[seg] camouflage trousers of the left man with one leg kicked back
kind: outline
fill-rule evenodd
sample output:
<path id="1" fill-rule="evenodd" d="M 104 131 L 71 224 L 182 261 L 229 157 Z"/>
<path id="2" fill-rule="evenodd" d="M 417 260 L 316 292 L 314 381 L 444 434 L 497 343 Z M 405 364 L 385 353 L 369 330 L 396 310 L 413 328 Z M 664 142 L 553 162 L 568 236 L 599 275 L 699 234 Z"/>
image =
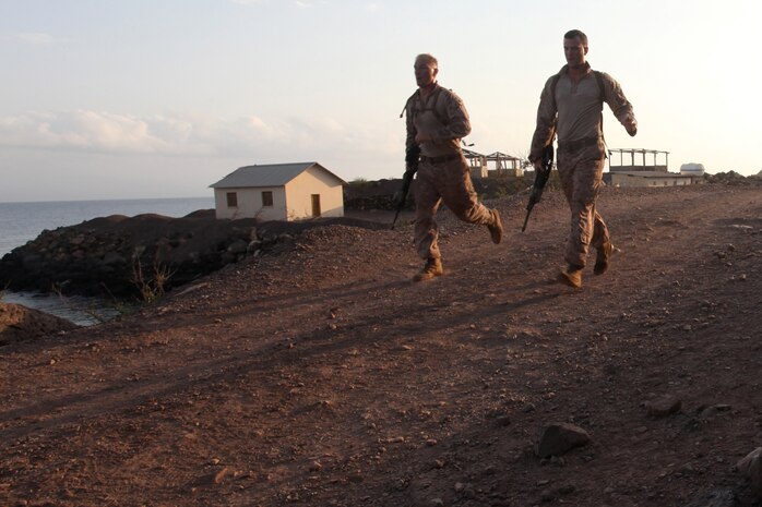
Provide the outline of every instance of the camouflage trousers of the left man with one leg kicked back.
<path id="1" fill-rule="evenodd" d="M 465 158 L 418 166 L 415 183 L 415 243 L 421 258 L 441 257 L 439 227 L 434 216 L 444 203 L 461 220 L 475 225 L 495 224 L 495 212 L 478 202 Z"/>

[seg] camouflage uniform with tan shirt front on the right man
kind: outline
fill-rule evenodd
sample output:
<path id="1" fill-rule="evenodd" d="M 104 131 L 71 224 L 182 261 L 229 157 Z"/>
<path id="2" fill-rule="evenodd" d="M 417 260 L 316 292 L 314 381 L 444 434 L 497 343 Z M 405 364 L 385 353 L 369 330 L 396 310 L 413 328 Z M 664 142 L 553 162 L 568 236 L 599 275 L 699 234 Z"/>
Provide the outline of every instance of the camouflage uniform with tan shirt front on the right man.
<path id="1" fill-rule="evenodd" d="M 567 65 L 546 82 L 529 152 L 529 161 L 541 159 L 543 148 L 558 134 L 558 174 L 571 208 L 564 259 L 580 268 L 591 246 L 600 250 L 610 244 L 606 222 L 595 209 L 606 162 L 602 100 L 623 125 L 628 118 L 634 119 L 619 83 L 603 72 L 596 76 L 585 64 L 587 73 L 576 84 L 567 74 Z"/>

